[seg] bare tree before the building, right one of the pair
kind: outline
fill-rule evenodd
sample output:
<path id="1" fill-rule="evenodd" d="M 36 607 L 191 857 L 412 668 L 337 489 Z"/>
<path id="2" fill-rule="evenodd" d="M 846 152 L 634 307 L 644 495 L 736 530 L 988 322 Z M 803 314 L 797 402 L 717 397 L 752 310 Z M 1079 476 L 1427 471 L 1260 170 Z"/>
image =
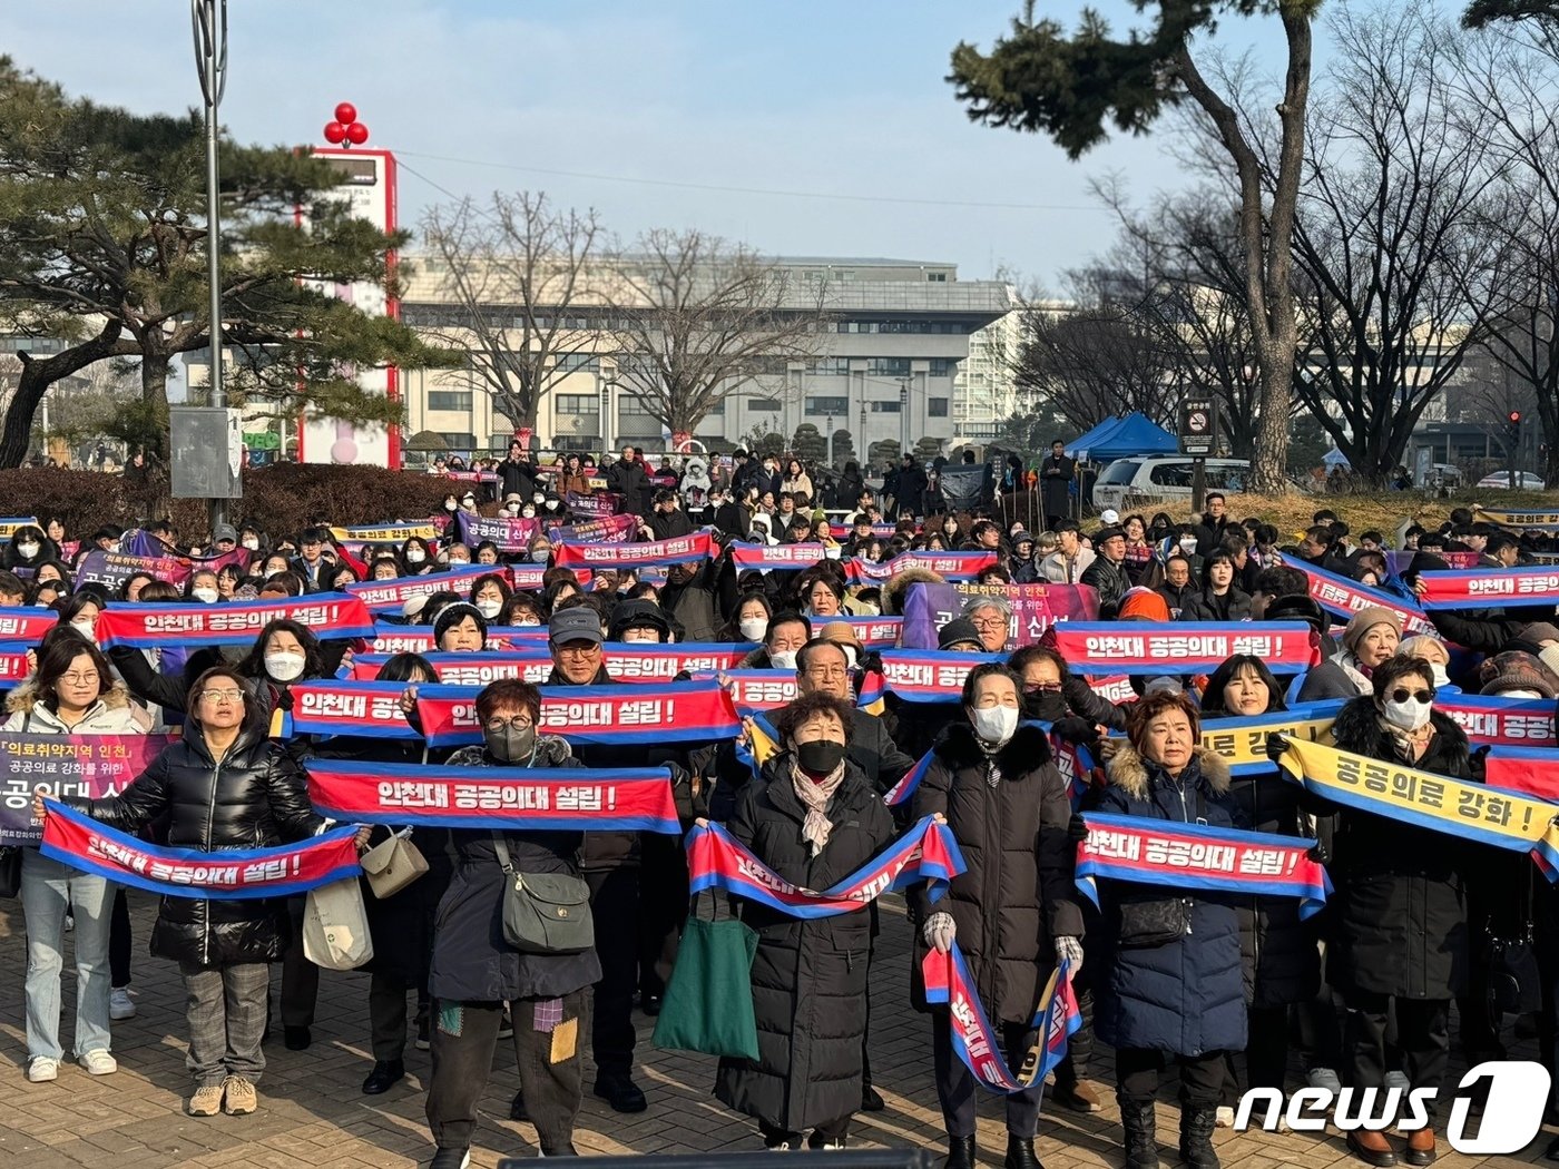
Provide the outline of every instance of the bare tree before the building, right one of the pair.
<path id="1" fill-rule="evenodd" d="M 613 259 L 602 344 L 622 391 L 673 435 L 691 435 L 728 397 L 773 397 L 775 383 L 755 379 L 822 348 L 826 287 L 742 245 L 661 229 Z"/>

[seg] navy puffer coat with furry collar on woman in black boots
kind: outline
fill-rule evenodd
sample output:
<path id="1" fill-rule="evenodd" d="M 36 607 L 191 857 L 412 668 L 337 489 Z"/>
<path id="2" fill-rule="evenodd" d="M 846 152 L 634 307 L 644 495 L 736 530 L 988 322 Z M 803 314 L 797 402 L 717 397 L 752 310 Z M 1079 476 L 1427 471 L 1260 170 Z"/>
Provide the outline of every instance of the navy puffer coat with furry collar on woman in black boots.
<path id="1" fill-rule="evenodd" d="M 1108 764 L 1110 782 L 1093 795 L 1093 811 L 1143 820 L 1244 828 L 1228 795 L 1228 767 L 1197 748 L 1179 779 L 1130 747 Z M 1241 1051 L 1246 1046 L 1246 994 L 1239 960 L 1239 921 L 1232 898 L 1196 893 L 1190 929 L 1160 946 L 1124 948 L 1121 906 L 1163 901 L 1163 887 L 1101 881 L 1108 977 L 1096 982 L 1094 1026 L 1113 1047 L 1147 1047 L 1175 1055 Z"/>

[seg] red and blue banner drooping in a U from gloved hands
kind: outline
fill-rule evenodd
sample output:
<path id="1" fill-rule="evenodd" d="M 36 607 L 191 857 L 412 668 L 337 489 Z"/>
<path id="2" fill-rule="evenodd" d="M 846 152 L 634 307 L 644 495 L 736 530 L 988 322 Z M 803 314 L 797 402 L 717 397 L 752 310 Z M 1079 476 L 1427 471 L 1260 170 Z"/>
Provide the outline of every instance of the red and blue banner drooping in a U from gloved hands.
<path id="1" fill-rule="evenodd" d="M 1038 1032 L 1038 1040 L 1024 1057 L 1023 1069 L 1015 1074 L 1001 1054 L 1001 1033 L 985 1015 L 985 1004 L 981 1002 L 957 941 L 946 954 L 928 951 L 920 960 L 920 973 L 926 980 L 926 1002 L 948 1005 L 953 1051 L 988 1091 L 1012 1094 L 1045 1083 L 1045 1077 L 1065 1058 L 1066 1040 L 1082 1027 L 1071 965 L 1063 962 L 1045 984 L 1034 1022 L 1029 1024 L 1029 1030 Z"/>

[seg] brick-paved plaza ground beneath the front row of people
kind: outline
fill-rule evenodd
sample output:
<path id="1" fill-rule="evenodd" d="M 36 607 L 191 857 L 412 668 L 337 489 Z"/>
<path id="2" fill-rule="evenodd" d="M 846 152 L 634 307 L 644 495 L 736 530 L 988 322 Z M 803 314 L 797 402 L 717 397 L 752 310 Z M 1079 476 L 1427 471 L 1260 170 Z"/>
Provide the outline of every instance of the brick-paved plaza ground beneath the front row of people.
<path id="1" fill-rule="evenodd" d="M 368 977 L 326 971 L 313 1047 L 285 1051 L 278 1037 L 267 1046 L 270 1068 L 260 1082 L 254 1116 L 192 1119 L 181 1111 L 189 1091 L 184 1069 L 184 1005 L 170 963 L 145 957 L 154 913 L 153 898 L 131 893 L 136 927 L 136 1004 L 139 1013 L 114 1024 L 118 1074 L 94 1079 L 61 1065 L 55 1083 L 33 1085 L 23 1075 L 22 979 L 25 946 L 20 906 L 0 901 L 0 1166 L 25 1169 L 410 1169 L 432 1155 L 422 1116 L 427 1052 L 407 1044 L 407 1079 L 384 1096 L 363 1096 L 373 1066 L 368 1052 Z M 887 1110 L 856 1118 L 851 1144 L 943 1147 L 940 1113 L 931 1083 L 926 1019 L 910 1012 L 907 996 L 909 931 L 903 904 L 886 902 L 882 946 L 875 965 L 878 993 L 871 1012 L 871 1065 Z M 67 952 L 69 963 L 69 952 Z M 274 968 L 279 990 L 281 968 Z M 64 1046 L 70 1049 L 75 980 L 65 980 Z M 279 1024 L 279 1018 L 278 1018 Z M 753 1152 L 756 1125 L 722 1108 L 709 1094 L 714 1060 L 650 1046 L 652 1021 L 639 1016 L 639 1083 L 649 1111 L 619 1116 L 586 1096 L 575 1144 L 582 1153 L 663 1153 L 689 1150 Z M 1529 1052 L 1528 1052 L 1529 1054 Z M 1108 1074 L 1108 1065 L 1098 1069 Z M 586 1074 L 586 1083 L 592 1075 Z M 535 1130 L 508 1121 L 518 1086 L 513 1047 L 499 1044 L 493 1079 L 482 1099 L 482 1122 L 472 1164 L 491 1169 L 500 1157 L 533 1157 Z M 1101 1093 L 1105 1111 L 1082 1116 L 1049 1110 L 1040 1122 L 1038 1150 L 1046 1169 L 1119 1164 L 1119 1127 L 1113 1093 Z M 1165 1100 L 1171 1093 L 1165 1093 Z M 1175 1163 L 1175 1111 L 1160 1104 L 1158 1133 L 1165 1164 Z M 1233 1135 L 1221 1130 L 1219 1157 L 1241 1169 L 1322 1169 L 1358 1166 L 1330 1130 L 1324 1138 L 1291 1133 Z M 1476 1160 L 1442 1153 L 1445 1169 L 1543 1163 L 1547 1136 L 1522 1157 Z M 1006 1147 L 1001 1105 L 981 1104 L 981 1158 L 999 1166 Z M 1444 1147 L 1444 1144 L 1442 1144 Z M 804 1157 L 806 1153 L 798 1153 Z"/>

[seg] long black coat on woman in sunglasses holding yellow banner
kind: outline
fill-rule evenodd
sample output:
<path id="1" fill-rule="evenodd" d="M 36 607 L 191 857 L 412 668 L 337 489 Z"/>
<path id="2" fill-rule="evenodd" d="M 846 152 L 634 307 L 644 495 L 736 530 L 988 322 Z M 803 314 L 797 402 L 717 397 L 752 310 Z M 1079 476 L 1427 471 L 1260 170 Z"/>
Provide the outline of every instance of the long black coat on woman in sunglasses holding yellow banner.
<path id="1" fill-rule="evenodd" d="M 1472 778 L 1467 736 L 1439 711 L 1434 739 L 1411 767 Z M 1381 726 L 1372 695 L 1338 714 L 1331 739 L 1339 751 L 1408 767 Z M 1327 980 L 1412 999 L 1450 999 L 1467 991 L 1467 874 L 1476 845 L 1400 820 L 1342 809 L 1327 867 L 1336 892 L 1328 906 Z"/>

